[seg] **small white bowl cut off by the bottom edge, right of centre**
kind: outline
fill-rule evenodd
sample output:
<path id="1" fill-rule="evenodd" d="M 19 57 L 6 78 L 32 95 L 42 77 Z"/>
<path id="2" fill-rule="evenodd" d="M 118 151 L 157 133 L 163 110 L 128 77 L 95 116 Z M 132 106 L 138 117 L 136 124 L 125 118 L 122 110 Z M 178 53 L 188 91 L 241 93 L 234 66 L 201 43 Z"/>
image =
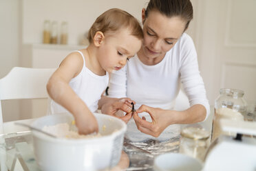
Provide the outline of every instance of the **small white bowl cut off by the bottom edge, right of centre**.
<path id="1" fill-rule="evenodd" d="M 158 171 L 200 171 L 202 162 L 185 154 L 169 152 L 156 157 L 154 169 Z"/>

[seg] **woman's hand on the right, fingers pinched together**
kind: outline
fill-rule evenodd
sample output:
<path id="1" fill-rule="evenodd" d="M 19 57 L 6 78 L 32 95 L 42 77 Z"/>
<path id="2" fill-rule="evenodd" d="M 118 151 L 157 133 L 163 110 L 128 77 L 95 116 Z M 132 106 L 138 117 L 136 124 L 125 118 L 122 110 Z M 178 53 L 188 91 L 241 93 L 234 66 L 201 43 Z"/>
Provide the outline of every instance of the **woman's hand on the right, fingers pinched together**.
<path id="1" fill-rule="evenodd" d="M 138 113 L 147 112 L 149 113 L 152 122 L 146 121 L 145 117 L 142 119 L 138 116 Z M 160 108 L 151 108 L 147 105 L 141 105 L 136 112 L 134 112 L 134 121 L 136 122 L 138 130 L 145 134 L 150 134 L 153 137 L 159 137 L 167 126 L 171 123 L 169 118 L 171 110 L 163 110 Z"/>

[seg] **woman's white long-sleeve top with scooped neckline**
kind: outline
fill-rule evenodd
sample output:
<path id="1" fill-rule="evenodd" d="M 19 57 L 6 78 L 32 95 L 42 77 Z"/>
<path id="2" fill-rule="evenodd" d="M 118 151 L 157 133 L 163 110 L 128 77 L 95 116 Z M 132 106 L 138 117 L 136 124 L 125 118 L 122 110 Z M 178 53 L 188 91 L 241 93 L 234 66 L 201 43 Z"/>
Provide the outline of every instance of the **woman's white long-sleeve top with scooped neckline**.
<path id="1" fill-rule="evenodd" d="M 173 110 L 175 98 L 180 91 L 180 83 L 191 106 L 204 105 L 207 118 L 210 107 L 204 82 L 198 70 L 198 57 L 193 40 L 186 33 L 182 34 L 160 63 L 147 66 L 138 59 L 138 56 L 135 56 L 127 62 L 125 68 L 112 73 L 109 81 L 109 97 L 129 97 L 136 101 L 137 108 L 145 104 Z M 139 114 L 139 116 L 146 116 L 147 121 L 151 121 L 147 114 Z M 178 134 L 178 126 L 170 125 L 158 138 L 166 139 L 170 132 Z M 153 138 L 136 130 L 134 119 L 128 123 L 126 137 L 132 141 Z"/>

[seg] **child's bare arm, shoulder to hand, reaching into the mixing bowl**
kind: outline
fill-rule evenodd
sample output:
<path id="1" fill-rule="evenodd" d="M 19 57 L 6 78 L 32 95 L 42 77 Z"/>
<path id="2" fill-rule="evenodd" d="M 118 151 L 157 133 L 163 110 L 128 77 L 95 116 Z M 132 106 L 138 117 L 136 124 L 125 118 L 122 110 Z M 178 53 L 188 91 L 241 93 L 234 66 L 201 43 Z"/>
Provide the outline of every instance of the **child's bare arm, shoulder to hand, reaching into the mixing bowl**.
<path id="1" fill-rule="evenodd" d="M 47 92 L 56 103 L 70 111 L 75 118 L 78 132 L 98 132 L 96 118 L 87 105 L 72 90 L 69 83 L 83 68 L 83 59 L 76 53 L 68 55 L 47 83 Z"/>

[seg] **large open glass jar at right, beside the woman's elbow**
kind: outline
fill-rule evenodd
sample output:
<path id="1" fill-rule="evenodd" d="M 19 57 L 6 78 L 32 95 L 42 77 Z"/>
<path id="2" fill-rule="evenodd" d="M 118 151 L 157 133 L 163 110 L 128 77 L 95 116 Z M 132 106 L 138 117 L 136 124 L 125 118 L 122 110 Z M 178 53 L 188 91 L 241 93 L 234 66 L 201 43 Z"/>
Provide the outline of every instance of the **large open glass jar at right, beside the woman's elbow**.
<path id="1" fill-rule="evenodd" d="M 220 125 L 220 119 L 242 120 L 246 114 L 246 101 L 244 100 L 244 91 L 230 88 L 220 89 L 220 96 L 215 100 L 215 114 L 213 117 L 213 132 L 211 141 L 217 139 L 220 134 L 235 136 L 230 132 L 223 132 Z"/>

